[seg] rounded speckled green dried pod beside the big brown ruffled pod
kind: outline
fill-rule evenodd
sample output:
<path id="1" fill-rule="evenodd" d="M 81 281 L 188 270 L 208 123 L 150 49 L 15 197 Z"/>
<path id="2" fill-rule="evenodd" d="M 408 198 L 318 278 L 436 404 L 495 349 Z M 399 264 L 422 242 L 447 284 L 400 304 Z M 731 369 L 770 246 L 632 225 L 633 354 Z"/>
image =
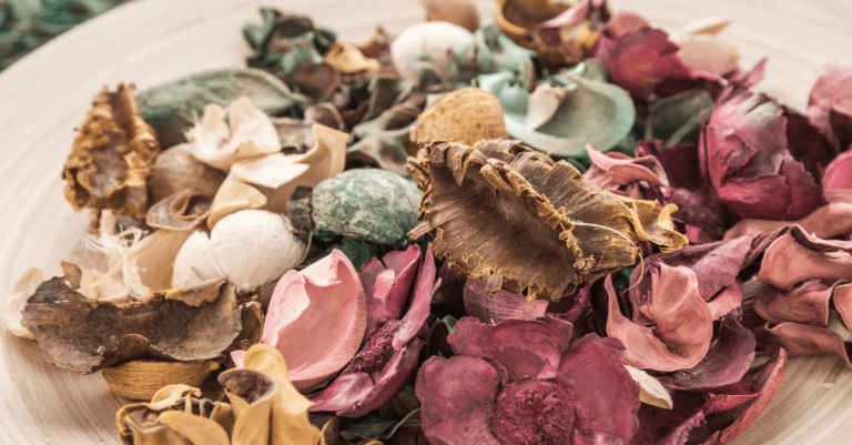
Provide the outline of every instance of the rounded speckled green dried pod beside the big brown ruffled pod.
<path id="1" fill-rule="evenodd" d="M 395 243 L 417 225 L 420 192 L 414 182 L 378 169 L 355 169 L 314 188 L 316 231 Z"/>

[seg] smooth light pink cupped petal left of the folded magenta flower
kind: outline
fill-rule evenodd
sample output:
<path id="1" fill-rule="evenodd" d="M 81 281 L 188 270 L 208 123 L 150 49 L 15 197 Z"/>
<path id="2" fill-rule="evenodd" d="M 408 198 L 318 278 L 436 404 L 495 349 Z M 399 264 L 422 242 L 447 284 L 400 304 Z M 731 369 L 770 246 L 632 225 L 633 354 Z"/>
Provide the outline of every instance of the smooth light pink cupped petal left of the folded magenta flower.
<path id="1" fill-rule="evenodd" d="M 281 277 L 270 301 L 262 341 L 281 352 L 291 382 L 305 392 L 349 363 L 366 323 L 361 279 L 349 259 L 335 249 L 304 270 Z M 237 366 L 243 354 L 232 354 Z"/>

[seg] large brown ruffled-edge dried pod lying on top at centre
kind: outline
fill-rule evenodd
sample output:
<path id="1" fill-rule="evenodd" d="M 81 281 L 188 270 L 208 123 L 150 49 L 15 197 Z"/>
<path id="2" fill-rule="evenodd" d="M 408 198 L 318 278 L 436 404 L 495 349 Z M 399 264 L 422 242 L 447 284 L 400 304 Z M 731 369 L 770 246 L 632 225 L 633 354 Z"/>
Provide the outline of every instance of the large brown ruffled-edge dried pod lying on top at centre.
<path id="1" fill-rule="evenodd" d="M 635 264 L 649 241 L 637 225 L 646 219 L 621 199 L 513 141 L 425 141 L 408 165 L 424 192 L 409 236 L 434 234 L 435 254 L 488 290 L 558 301 Z"/>

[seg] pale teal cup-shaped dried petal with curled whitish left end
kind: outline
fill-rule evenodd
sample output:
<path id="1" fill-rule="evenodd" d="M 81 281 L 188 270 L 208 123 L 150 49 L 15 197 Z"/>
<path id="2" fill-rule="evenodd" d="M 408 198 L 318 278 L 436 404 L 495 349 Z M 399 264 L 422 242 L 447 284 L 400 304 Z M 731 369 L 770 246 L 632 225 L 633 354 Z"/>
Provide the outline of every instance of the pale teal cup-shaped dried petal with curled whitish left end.
<path id="1" fill-rule="evenodd" d="M 564 90 L 549 119 L 531 119 L 531 94 L 510 72 L 479 77 L 480 87 L 500 99 L 509 135 L 526 145 L 567 158 L 581 154 L 587 143 L 606 152 L 633 127 L 636 109 L 630 94 L 600 80 L 599 62 L 588 60 L 575 70 L 542 80 Z"/>

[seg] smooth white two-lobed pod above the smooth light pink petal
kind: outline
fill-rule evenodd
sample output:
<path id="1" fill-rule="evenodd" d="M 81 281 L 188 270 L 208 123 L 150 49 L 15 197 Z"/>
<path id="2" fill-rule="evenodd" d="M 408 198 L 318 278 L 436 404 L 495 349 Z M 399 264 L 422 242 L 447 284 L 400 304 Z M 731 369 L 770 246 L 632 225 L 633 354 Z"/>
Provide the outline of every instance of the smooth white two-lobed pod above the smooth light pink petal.
<path id="1" fill-rule="evenodd" d="M 224 274 L 240 291 L 254 292 L 296 266 L 306 250 L 286 216 L 241 210 L 220 220 L 210 236 L 195 232 L 181 245 L 171 285 L 183 289 Z"/>

